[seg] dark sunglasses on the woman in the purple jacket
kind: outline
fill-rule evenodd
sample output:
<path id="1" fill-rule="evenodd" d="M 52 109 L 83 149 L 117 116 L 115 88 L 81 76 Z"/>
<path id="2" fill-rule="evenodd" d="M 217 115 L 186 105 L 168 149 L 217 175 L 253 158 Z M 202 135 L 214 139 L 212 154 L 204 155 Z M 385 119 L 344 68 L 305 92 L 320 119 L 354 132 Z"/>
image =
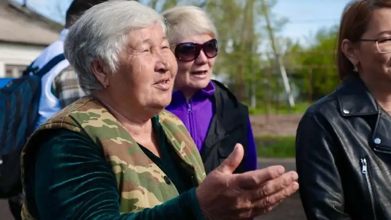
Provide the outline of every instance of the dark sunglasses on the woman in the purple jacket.
<path id="1" fill-rule="evenodd" d="M 188 62 L 197 59 L 201 50 L 207 58 L 216 57 L 218 52 L 217 40 L 212 39 L 203 44 L 192 42 L 179 43 L 175 46 L 174 54 L 176 59 Z"/>

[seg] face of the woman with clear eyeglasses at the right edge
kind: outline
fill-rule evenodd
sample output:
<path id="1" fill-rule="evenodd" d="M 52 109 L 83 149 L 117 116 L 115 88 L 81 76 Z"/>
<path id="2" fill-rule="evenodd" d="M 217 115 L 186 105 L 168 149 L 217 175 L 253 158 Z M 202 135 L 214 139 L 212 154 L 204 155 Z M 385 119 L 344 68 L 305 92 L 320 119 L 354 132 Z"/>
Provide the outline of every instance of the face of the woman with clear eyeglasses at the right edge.
<path id="1" fill-rule="evenodd" d="M 361 77 L 371 81 L 391 80 L 391 9 L 375 10 L 361 39 L 348 57 Z M 376 44 L 365 40 L 379 41 Z"/>

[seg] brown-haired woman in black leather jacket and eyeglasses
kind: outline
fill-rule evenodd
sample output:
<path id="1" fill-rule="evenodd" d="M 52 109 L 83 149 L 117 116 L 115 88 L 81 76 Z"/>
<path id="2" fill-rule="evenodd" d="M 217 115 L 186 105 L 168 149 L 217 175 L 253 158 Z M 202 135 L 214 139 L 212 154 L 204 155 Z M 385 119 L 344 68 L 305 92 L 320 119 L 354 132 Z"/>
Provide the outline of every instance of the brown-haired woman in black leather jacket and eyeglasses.
<path id="1" fill-rule="evenodd" d="M 391 0 L 348 4 L 342 84 L 304 114 L 296 137 L 308 220 L 391 220 Z"/>

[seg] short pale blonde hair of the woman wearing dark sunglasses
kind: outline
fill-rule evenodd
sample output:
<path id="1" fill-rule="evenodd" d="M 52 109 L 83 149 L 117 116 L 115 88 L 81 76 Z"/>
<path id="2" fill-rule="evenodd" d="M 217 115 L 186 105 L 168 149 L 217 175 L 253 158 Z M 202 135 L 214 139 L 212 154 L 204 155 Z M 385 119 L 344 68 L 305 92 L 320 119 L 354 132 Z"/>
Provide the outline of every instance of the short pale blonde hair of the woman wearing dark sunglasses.
<path id="1" fill-rule="evenodd" d="M 217 39 L 217 29 L 208 14 L 196 6 L 175 6 L 162 15 L 169 26 L 167 38 L 171 44 L 190 35 L 208 34 Z"/>

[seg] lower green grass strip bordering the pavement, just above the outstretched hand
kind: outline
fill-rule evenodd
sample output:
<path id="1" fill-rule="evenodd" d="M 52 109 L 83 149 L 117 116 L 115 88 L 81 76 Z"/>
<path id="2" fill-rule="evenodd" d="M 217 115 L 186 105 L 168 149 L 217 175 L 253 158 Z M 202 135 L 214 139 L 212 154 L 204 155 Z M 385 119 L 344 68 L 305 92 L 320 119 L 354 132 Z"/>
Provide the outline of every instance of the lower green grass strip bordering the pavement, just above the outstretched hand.
<path id="1" fill-rule="evenodd" d="M 262 158 L 294 158 L 294 136 L 261 136 L 255 138 L 257 155 Z"/>

